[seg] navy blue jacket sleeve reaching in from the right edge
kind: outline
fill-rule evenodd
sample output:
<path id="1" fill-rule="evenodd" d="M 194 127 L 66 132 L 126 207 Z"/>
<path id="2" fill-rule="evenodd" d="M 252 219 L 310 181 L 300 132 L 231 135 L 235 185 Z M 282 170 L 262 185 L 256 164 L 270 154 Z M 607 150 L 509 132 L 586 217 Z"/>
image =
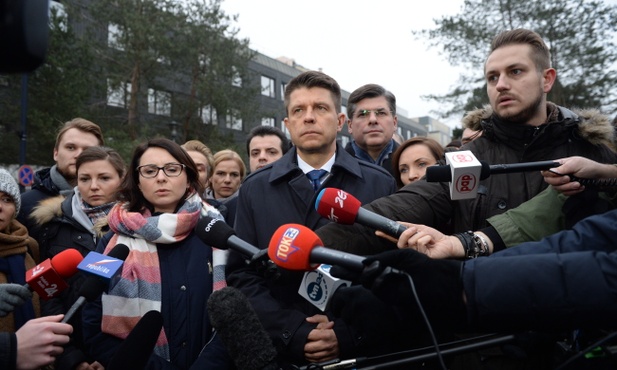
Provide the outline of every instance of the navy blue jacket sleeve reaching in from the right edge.
<path id="1" fill-rule="evenodd" d="M 465 262 L 472 323 L 489 330 L 617 327 L 617 210 Z"/>

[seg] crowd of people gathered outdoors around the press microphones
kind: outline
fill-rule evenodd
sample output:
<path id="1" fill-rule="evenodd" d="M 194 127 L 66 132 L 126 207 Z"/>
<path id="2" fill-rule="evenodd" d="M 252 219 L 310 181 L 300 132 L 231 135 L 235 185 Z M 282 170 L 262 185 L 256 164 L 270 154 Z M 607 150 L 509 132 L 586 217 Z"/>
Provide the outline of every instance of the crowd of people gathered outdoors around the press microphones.
<path id="1" fill-rule="evenodd" d="M 430 346 L 427 323 L 441 340 L 550 330 L 516 351 L 470 351 L 447 367 L 551 368 L 557 341 L 617 324 L 614 191 L 580 181 L 617 178 L 614 127 L 595 110 L 548 101 L 556 76 L 535 32 L 496 35 L 484 65 L 490 106 L 466 114 L 460 143 L 444 147 L 428 137 L 397 141 L 396 98 L 384 87 L 354 90 L 345 114 L 336 80 L 303 72 L 285 89 L 289 138 L 276 127 L 251 130 L 248 168 L 234 150 L 165 138 L 138 145 L 127 164 L 97 124 L 66 122 L 55 164 L 37 171 L 30 190 L 20 193 L 0 170 L 0 368 L 103 370 L 154 310 L 163 325 L 146 368 L 235 369 L 206 309 L 226 286 L 247 298 L 280 368 Z M 352 140 L 343 146 L 345 124 Z M 453 201 L 448 183 L 423 181 L 452 150 L 491 164 L 560 166 L 489 176 L 474 199 Z M 331 222 L 315 209 L 326 187 L 406 230 L 396 238 Z M 335 268 L 352 285 L 322 310 L 299 294 L 304 272 L 266 272 L 207 243 L 196 232 L 203 218 L 260 250 L 280 226 L 301 224 L 327 248 L 367 256 L 366 267 Z M 117 281 L 66 323 L 84 274 L 51 299 L 27 288 L 26 272 L 46 259 L 67 249 L 106 255 L 117 245 L 129 251 Z"/>

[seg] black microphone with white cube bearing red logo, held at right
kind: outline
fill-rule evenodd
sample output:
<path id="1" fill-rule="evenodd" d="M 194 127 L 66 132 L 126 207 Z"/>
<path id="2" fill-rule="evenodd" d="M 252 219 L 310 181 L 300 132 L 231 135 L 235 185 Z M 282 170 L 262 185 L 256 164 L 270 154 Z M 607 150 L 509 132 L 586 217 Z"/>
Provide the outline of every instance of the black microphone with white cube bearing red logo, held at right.
<path id="1" fill-rule="evenodd" d="M 480 181 L 491 175 L 542 171 L 561 165 L 556 161 L 489 165 L 479 161 L 469 150 L 448 152 L 445 157 L 446 165 L 426 168 L 426 181 L 449 182 L 452 200 L 475 198 Z"/>

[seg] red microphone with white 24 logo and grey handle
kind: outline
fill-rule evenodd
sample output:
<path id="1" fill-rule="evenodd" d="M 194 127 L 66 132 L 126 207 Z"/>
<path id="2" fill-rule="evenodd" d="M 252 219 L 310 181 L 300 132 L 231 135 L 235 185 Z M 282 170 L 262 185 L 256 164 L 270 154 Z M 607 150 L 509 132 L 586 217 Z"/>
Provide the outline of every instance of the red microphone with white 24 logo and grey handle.
<path id="1" fill-rule="evenodd" d="M 397 239 L 407 229 L 396 221 L 362 208 L 361 205 L 356 197 L 336 188 L 322 189 L 315 200 L 317 213 L 338 224 L 353 225 L 357 222 Z"/>

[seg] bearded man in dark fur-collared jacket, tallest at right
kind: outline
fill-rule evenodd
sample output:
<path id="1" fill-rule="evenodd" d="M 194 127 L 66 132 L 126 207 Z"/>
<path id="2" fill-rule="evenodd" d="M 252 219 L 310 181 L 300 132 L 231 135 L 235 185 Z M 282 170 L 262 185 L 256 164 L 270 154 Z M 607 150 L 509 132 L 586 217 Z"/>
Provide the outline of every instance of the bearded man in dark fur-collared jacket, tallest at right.
<path id="1" fill-rule="evenodd" d="M 556 81 L 550 60 L 546 44 L 533 31 L 505 31 L 493 39 L 484 68 L 490 108 L 465 117 L 466 127 L 481 130 L 482 135 L 462 150 L 470 150 L 489 164 L 575 155 L 617 163 L 614 129 L 606 117 L 595 111 L 574 112 L 547 101 Z M 392 220 L 429 225 L 446 233 L 464 232 L 484 228 L 488 217 L 517 207 L 546 187 L 540 171 L 494 175 L 480 182 L 474 199 L 452 201 L 448 183 L 416 181 L 364 208 Z M 374 229 L 358 224 L 330 223 L 318 229 L 317 234 L 326 247 L 360 255 L 396 249 L 394 243 L 377 237 Z M 534 343 L 531 347 L 543 349 L 527 352 L 525 359 L 493 351 L 483 353 L 481 362 L 466 362 L 475 369 L 549 368 L 553 344 L 549 340 L 543 345 L 546 347 Z M 493 355 L 493 360 L 488 360 Z"/>

